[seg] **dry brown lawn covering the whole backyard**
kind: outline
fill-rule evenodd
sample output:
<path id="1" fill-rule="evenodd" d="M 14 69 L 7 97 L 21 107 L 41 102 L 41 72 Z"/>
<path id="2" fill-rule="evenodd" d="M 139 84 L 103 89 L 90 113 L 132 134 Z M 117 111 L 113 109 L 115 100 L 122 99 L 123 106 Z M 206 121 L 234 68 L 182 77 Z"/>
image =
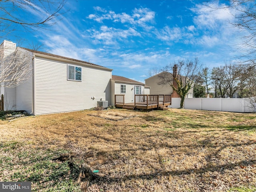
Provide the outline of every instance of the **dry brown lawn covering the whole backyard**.
<path id="1" fill-rule="evenodd" d="M 99 170 L 90 192 L 256 191 L 256 114 L 84 110 L 1 121 L 0 141 L 0 180 L 32 180 L 34 191 L 68 191 L 64 180 L 86 189 L 70 166 L 55 172 L 61 150 Z"/>

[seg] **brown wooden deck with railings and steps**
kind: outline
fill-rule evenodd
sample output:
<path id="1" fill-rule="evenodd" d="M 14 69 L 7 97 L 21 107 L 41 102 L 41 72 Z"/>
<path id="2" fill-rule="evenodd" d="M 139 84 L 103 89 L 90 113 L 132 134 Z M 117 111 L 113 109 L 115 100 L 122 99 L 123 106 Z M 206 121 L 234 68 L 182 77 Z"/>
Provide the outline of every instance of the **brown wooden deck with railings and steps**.
<path id="1" fill-rule="evenodd" d="M 124 109 L 166 110 L 172 103 L 172 95 L 135 95 L 134 103 L 125 103 L 124 95 L 115 95 L 115 106 Z"/>

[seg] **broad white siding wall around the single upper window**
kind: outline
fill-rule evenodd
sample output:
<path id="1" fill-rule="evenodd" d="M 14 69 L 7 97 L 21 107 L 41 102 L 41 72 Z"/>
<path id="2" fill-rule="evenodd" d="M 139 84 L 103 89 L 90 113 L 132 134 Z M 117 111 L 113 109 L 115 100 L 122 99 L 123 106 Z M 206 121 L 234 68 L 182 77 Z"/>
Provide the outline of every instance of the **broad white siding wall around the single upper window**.
<path id="1" fill-rule="evenodd" d="M 82 82 L 68 81 L 67 64 L 35 58 L 36 114 L 89 109 L 110 99 L 110 70 L 76 65 L 82 67 Z"/>

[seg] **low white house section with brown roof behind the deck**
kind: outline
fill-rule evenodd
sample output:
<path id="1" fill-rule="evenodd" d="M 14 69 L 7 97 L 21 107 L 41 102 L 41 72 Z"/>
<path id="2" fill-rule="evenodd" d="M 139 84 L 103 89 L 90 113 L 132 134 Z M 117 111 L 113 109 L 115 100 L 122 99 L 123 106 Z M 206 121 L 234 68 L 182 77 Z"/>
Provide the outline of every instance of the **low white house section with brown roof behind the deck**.
<path id="1" fill-rule="evenodd" d="M 125 103 L 134 102 L 134 94 L 150 94 L 150 87 L 144 83 L 125 78 L 122 76 L 112 75 L 111 79 L 111 105 L 115 104 L 115 94 L 124 94 Z"/>

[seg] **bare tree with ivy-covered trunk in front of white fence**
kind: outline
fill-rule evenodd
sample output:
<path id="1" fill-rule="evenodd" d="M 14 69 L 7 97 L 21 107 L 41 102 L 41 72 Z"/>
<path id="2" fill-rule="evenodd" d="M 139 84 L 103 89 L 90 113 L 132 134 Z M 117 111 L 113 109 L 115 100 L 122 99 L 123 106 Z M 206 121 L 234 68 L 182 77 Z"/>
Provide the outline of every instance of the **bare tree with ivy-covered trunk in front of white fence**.
<path id="1" fill-rule="evenodd" d="M 202 64 L 199 63 L 198 58 L 194 61 L 178 60 L 178 62 L 167 65 L 162 71 L 169 72 L 172 76 L 166 75 L 167 73 L 159 74 L 159 84 L 170 85 L 179 94 L 181 98 L 180 108 L 183 108 L 189 90 L 201 80 Z"/>

